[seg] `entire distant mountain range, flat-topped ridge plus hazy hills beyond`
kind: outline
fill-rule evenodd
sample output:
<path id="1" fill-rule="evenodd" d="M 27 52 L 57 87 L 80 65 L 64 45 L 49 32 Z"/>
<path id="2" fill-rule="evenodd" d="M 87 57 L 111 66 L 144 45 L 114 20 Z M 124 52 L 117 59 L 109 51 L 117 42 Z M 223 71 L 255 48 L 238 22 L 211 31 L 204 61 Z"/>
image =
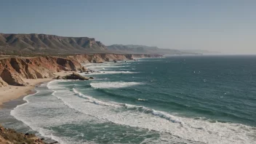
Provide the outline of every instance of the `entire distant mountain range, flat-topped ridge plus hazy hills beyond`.
<path id="1" fill-rule="evenodd" d="M 75 53 L 119 53 L 159 55 L 201 55 L 202 52 L 177 49 L 160 49 L 144 45 L 113 44 L 105 46 L 88 37 L 65 37 L 48 34 L 0 33 L 0 54 L 75 54 Z M 204 52 L 205 53 L 205 52 Z"/>

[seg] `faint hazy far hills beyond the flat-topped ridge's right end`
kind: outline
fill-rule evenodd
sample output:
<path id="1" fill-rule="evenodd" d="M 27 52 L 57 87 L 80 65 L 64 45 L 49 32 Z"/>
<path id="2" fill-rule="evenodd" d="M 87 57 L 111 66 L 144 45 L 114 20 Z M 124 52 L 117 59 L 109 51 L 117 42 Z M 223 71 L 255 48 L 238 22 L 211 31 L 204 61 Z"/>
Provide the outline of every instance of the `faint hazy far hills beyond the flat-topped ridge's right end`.
<path id="1" fill-rule="evenodd" d="M 108 50 L 115 53 L 126 54 L 159 54 L 159 55 L 196 55 L 194 52 L 181 52 L 177 49 L 160 49 L 159 47 L 148 47 L 143 45 L 122 45 L 113 44 L 108 46 Z"/>

